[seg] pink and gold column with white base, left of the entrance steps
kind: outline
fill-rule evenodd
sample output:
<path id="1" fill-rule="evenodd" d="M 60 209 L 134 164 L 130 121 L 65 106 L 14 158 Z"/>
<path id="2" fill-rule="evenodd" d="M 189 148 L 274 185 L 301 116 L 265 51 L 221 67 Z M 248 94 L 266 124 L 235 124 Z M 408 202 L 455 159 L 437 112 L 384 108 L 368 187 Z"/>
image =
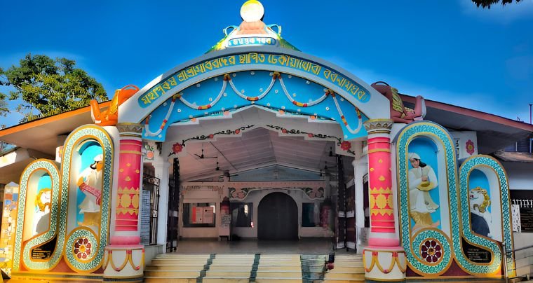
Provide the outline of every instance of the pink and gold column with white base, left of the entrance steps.
<path id="1" fill-rule="evenodd" d="M 104 280 L 128 278 L 142 282 L 144 246 L 140 245 L 139 205 L 142 181 L 142 125 L 119 123 L 119 166 L 114 170 L 117 179 L 114 235 L 105 248 Z M 115 196 L 114 196 L 115 197 Z"/>

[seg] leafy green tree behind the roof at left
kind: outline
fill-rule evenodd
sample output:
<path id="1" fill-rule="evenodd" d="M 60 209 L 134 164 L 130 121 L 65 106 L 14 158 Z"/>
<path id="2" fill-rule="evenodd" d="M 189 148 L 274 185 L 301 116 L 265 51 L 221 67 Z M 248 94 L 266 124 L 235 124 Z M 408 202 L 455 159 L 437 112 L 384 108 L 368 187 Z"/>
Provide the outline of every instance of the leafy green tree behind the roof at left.
<path id="1" fill-rule="evenodd" d="M 76 68 L 74 60 L 46 55 L 28 54 L 19 66 L 0 69 L 0 85 L 13 86 L 9 99 L 22 99 L 15 109 L 24 116 L 21 123 L 88 106 L 90 99 L 107 100 L 102 84 Z M 5 98 L 0 94 L 0 113 Z"/>

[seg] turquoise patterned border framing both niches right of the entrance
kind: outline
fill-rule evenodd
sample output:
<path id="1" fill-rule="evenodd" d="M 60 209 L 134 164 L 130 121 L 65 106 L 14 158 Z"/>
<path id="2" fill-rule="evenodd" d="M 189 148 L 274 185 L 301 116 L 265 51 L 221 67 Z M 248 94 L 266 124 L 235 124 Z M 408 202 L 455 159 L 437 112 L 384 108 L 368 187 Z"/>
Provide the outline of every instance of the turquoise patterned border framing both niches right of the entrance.
<path id="1" fill-rule="evenodd" d="M 449 186 L 448 198 L 450 202 L 450 212 L 459 213 L 450 213 L 450 226 L 452 233 L 451 246 L 453 253 L 443 256 L 454 256 L 461 269 L 470 273 L 471 275 L 483 277 L 484 275 L 497 272 L 501 266 L 501 251 L 499 247 L 495 242 L 473 235 L 471 233 L 471 229 L 469 229 L 470 222 L 468 214 L 470 210 L 468 209 L 468 180 L 466 180 L 466 178 L 468 178 L 469 170 L 472 170 L 475 166 L 479 166 L 481 164 L 489 165 L 494 169 L 494 171 L 497 172 L 501 184 L 502 210 L 504 210 L 503 203 L 506 202 L 506 212 L 502 211 L 502 214 L 504 214 L 504 233 L 505 235 L 510 235 L 508 233 L 511 233 L 511 216 L 508 207 L 508 185 L 504 170 L 494 159 L 490 159 L 485 156 L 473 157 L 467 160 L 467 162 L 461 166 L 461 186 L 459 187 L 457 177 L 457 160 L 452 138 L 444 127 L 436 123 L 426 121 L 415 122 L 407 125 L 403 128 L 403 130 L 400 131 L 396 138 L 398 160 L 398 202 L 400 207 L 399 219 L 401 225 L 400 240 L 405 249 L 407 261 L 410 263 L 414 271 L 420 273 L 421 275 L 439 275 L 445 272 L 445 270 L 439 270 L 437 268 L 438 265 L 424 265 L 424 263 L 420 262 L 417 259 L 417 256 L 414 256 L 413 254 L 413 251 L 417 250 L 420 243 L 418 237 L 412 240 L 410 236 L 410 219 L 408 216 L 409 201 L 407 199 L 409 193 L 409 189 L 407 187 L 407 146 L 408 142 L 414 139 L 414 137 L 436 138 L 441 141 L 444 146 L 445 170 Z M 466 172 L 464 172 L 464 170 L 466 170 Z M 466 223 L 465 226 L 468 227 L 468 229 L 462 229 L 461 231 L 462 223 Z M 437 237 L 438 234 L 443 234 L 436 230 L 432 231 L 434 231 L 434 233 L 429 233 L 428 237 Z M 468 261 L 462 250 L 463 235 L 465 235 L 466 239 L 473 244 L 490 249 L 494 256 L 492 263 L 473 263 Z M 511 238 L 508 237 L 508 239 Z M 512 248 L 512 240 L 506 240 L 505 244 L 507 249 Z M 508 266 L 511 266 L 511 261 L 511 259 L 508 261 Z"/>

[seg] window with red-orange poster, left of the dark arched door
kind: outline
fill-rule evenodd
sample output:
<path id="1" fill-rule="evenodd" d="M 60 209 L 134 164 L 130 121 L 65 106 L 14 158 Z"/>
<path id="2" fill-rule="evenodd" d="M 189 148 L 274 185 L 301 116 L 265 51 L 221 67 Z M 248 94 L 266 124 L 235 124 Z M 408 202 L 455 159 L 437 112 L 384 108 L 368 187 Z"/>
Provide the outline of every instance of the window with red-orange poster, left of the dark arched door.
<path id="1" fill-rule="evenodd" d="M 184 203 L 184 227 L 215 227 L 215 202 Z"/>

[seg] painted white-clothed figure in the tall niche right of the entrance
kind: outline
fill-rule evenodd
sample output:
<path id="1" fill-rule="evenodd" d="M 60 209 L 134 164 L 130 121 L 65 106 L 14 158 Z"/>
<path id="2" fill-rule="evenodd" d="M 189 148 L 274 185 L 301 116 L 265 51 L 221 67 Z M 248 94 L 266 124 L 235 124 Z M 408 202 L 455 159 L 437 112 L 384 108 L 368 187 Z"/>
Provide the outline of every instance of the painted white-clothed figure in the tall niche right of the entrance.
<path id="1" fill-rule="evenodd" d="M 420 160 L 417 153 L 409 153 L 412 169 L 409 170 L 409 214 L 414 220 L 413 232 L 419 228 L 437 227 L 440 221 L 433 223 L 431 213 L 438 205 L 433 202 L 429 191 L 438 186 L 437 175 L 431 166 Z"/>

